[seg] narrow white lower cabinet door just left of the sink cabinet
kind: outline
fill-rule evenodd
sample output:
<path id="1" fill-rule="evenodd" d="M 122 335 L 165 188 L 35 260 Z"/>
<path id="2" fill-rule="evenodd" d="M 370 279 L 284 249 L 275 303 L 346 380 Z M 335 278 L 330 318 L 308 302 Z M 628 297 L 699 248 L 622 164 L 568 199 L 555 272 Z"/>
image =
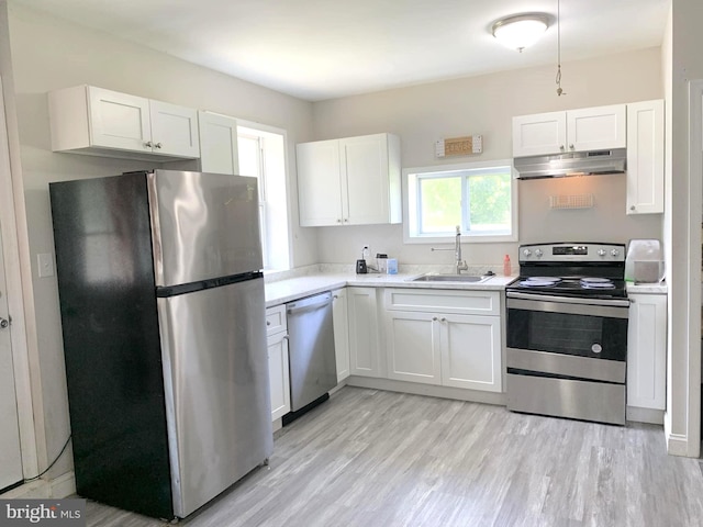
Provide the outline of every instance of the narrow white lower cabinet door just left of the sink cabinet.
<path id="1" fill-rule="evenodd" d="M 349 367 L 353 375 L 382 377 L 376 288 L 347 288 Z"/>

